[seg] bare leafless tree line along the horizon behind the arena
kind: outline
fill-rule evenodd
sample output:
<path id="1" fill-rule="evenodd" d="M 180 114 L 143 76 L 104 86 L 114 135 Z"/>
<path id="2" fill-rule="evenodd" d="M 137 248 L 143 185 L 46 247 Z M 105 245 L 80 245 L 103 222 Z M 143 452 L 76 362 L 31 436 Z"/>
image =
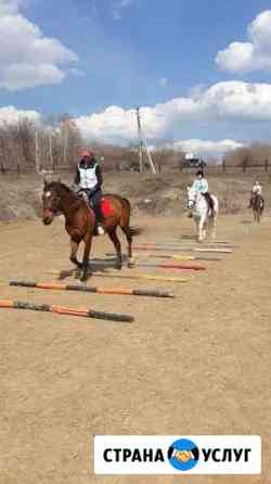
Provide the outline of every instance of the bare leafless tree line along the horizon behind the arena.
<path id="1" fill-rule="evenodd" d="M 138 145 L 119 147 L 101 142 L 86 142 L 68 114 L 50 117 L 42 123 L 21 118 L 17 123 L 0 124 L 0 173 L 74 169 L 79 149 L 91 145 L 105 171 L 139 171 Z M 157 171 L 181 168 L 185 153 L 171 149 L 152 151 Z M 208 166 L 220 164 L 222 170 L 271 166 L 271 143 L 253 143 L 229 152 L 223 160 L 205 158 Z M 147 161 L 143 164 L 149 169 Z"/>

